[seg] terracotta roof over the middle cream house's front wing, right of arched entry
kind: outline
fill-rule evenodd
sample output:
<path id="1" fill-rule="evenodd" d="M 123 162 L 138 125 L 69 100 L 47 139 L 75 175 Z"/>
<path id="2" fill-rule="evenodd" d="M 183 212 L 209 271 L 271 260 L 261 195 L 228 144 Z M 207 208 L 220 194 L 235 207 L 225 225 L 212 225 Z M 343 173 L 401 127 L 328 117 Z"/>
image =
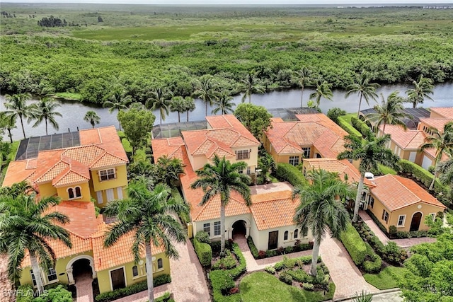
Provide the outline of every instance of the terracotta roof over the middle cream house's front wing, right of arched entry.
<path id="1" fill-rule="evenodd" d="M 291 191 L 252 195 L 251 211 L 258 230 L 293 226 L 299 199 L 291 198 Z"/>

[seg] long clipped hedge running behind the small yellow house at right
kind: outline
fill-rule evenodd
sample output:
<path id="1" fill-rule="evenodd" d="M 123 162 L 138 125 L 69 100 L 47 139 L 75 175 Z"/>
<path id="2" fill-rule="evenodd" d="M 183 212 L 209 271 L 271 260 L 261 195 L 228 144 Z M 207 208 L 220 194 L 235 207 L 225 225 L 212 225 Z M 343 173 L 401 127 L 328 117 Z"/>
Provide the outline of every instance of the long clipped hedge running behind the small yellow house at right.
<path id="1" fill-rule="evenodd" d="M 411 161 L 406 161 L 406 159 L 401 159 L 399 164 L 401 166 L 402 173 L 410 174 L 413 178 L 422 182 L 425 187 L 430 187 L 434 175 L 428 172 L 428 170 L 423 169 L 420 165 L 417 165 Z M 435 197 L 439 199 L 440 202 L 445 204 L 447 207 L 450 205 L 450 201 L 448 199 L 450 196 L 450 189 L 448 186 L 442 185 L 438 179 L 434 182 L 434 192 Z"/>

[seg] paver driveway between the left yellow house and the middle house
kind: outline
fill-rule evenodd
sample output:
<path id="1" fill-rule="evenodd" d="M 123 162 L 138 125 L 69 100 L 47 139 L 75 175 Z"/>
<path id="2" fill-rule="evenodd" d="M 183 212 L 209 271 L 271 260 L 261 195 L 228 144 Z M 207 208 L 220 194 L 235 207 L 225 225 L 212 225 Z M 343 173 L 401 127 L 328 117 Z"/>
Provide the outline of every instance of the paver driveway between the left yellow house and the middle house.
<path id="1" fill-rule="evenodd" d="M 171 283 L 156 286 L 154 298 L 162 296 L 166 291 L 173 294 L 178 302 L 208 302 L 211 301 L 205 275 L 200 261 L 195 254 L 192 243 L 173 243 L 179 253 L 179 260 L 170 259 Z M 115 300 L 115 302 L 144 302 L 148 301 L 148 292 Z M 79 301 L 78 301 L 79 302 Z"/>

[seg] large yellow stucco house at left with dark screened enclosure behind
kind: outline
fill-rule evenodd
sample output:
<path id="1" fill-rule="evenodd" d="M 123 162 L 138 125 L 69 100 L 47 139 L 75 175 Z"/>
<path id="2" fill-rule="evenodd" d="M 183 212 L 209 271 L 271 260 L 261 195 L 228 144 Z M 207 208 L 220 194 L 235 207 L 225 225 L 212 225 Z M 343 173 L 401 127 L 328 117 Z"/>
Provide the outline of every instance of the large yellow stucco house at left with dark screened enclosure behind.
<path id="1" fill-rule="evenodd" d="M 49 241 L 57 262 L 48 272 L 40 272 L 44 284 L 74 284 L 78 277 L 89 274 L 98 278 L 103 293 L 146 280 L 144 259 L 134 263 L 132 236 L 104 248 L 108 224 L 102 215 L 96 217 L 95 203 L 105 207 L 126 194 L 128 160 L 115 127 L 32 137 L 21 146 L 17 160 L 8 166 L 3 185 L 26 180 L 38 197 L 60 197 L 62 202 L 52 210 L 70 219 L 64 228 L 70 233 L 73 248 Z M 154 277 L 169 274 L 170 264 L 162 245 L 152 250 Z M 31 270 L 28 256 L 22 267 L 21 284 L 35 285 L 36 272 Z"/>

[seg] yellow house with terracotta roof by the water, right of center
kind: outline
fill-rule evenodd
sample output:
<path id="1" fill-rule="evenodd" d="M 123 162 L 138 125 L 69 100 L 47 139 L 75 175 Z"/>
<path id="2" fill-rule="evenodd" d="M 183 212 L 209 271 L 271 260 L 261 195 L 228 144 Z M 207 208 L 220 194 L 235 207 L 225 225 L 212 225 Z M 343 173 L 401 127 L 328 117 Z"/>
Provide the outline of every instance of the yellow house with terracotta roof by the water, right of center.
<path id="1" fill-rule="evenodd" d="M 263 146 L 276 163 L 299 165 L 303 158 L 336 158 L 344 151 L 348 132 L 322 113 L 296 115 L 299 121 L 272 119 Z"/>

